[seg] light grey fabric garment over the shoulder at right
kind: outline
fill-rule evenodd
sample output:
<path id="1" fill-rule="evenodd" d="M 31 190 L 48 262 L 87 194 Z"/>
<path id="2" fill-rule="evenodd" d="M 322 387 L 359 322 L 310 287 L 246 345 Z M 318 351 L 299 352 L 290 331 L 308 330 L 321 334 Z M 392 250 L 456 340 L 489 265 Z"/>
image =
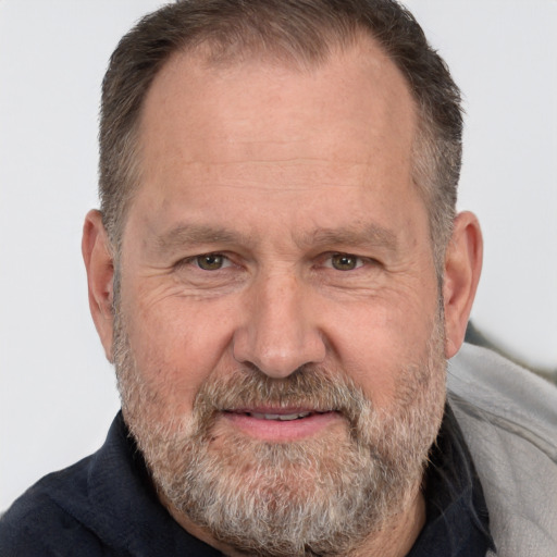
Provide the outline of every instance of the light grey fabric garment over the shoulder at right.
<path id="1" fill-rule="evenodd" d="M 449 361 L 448 398 L 472 454 L 500 557 L 557 555 L 557 388 L 491 350 Z"/>

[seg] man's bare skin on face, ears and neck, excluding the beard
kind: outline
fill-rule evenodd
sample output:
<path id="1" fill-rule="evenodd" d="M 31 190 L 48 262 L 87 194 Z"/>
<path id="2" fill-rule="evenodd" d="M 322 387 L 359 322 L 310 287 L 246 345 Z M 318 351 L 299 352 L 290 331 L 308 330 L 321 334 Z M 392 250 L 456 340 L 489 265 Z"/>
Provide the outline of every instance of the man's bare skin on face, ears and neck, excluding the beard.
<path id="1" fill-rule="evenodd" d="M 203 381 L 238 363 L 277 380 L 306 363 L 335 366 L 389 411 L 400 367 L 424 354 L 438 299 L 428 211 L 411 180 L 416 127 L 403 75 L 367 39 L 312 70 L 264 60 L 215 67 L 200 53 L 166 63 L 143 110 L 141 184 L 120 261 L 131 348 L 164 399 L 161 420 L 188 416 Z M 98 211 L 86 218 L 83 251 L 112 359 L 114 261 Z M 200 269 L 207 253 L 223 267 Z M 354 269 L 335 269 L 336 253 Z M 447 358 L 462 343 L 481 256 L 478 221 L 461 213 L 444 270 Z M 287 443 L 333 436 L 346 422 L 223 414 L 216 429 L 215 450 L 232 431 Z M 416 487 L 362 555 L 408 553 L 424 521 Z"/>

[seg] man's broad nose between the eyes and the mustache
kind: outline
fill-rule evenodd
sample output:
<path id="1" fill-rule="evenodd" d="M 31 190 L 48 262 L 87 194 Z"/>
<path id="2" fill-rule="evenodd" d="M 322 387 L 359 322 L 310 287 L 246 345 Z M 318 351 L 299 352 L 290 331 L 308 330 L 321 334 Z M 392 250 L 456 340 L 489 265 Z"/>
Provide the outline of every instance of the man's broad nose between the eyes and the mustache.
<path id="1" fill-rule="evenodd" d="M 311 296 L 295 276 L 274 276 L 252 285 L 246 319 L 234 334 L 234 358 L 265 375 L 282 379 L 325 358 Z"/>

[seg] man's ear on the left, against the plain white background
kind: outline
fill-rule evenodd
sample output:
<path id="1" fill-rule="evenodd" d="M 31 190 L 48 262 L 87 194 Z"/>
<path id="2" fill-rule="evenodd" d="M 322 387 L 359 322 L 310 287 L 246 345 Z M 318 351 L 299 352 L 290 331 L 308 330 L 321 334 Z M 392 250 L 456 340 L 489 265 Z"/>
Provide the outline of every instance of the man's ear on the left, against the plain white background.
<path id="1" fill-rule="evenodd" d="M 89 308 L 104 354 L 112 361 L 114 260 L 100 211 L 89 211 L 83 226 L 82 253 L 87 270 Z"/>

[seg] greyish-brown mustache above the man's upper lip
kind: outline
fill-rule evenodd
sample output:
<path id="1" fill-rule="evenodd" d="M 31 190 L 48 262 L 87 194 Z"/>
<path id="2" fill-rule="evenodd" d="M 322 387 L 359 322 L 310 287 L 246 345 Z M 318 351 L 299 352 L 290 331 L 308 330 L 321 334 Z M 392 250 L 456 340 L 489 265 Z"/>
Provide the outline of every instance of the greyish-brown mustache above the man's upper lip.
<path id="1" fill-rule="evenodd" d="M 194 413 L 207 423 L 219 412 L 261 407 L 339 412 L 357 428 L 371 411 L 371 401 L 344 373 L 322 366 L 304 366 L 282 379 L 243 366 L 208 380 L 195 398 Z"/>

